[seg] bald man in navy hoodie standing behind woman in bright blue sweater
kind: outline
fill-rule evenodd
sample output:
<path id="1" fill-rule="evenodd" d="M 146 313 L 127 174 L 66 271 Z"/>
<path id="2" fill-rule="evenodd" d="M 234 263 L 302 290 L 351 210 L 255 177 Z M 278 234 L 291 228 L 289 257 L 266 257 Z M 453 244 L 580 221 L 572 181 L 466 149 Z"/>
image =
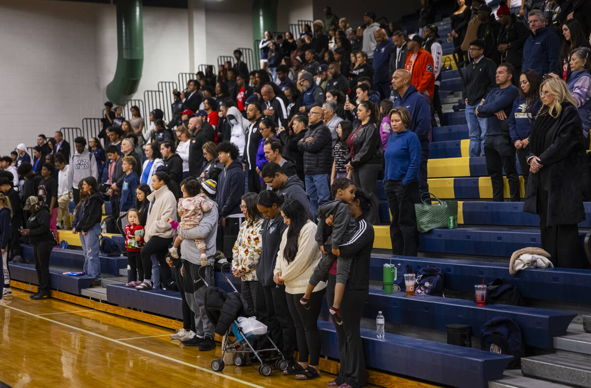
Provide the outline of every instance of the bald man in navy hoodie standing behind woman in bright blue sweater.
<path id="1" fill-rule="evenodd" d="M 375 56 L 374 56 L 375 57 Z M 429 190 L 427 184 L 427 159 L 431 141 L 431 107 L 423 94 L 411 84 L 411 73 L 398 69 L 392 74 L 392 89 L 398 92 L 392 107 L 404 106 L 411 118 L 408 129 L 417 134 L 421 142 L 421 166 L 418 172 L 418 189 L 421 193 Z"/>

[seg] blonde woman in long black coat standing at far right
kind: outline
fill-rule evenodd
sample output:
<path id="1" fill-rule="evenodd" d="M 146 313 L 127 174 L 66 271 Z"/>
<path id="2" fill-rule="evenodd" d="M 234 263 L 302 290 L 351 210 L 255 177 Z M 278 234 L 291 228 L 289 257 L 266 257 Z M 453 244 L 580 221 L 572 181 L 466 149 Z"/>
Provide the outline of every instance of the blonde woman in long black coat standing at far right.
<path id="1" fill-rule="evenodd" d="M 543 249 L 556 267 L 579 268 L 577 223 L 585 219 L 586 157 L 581 119 L 566 83 L 557 78 L 540 87 L 538 112 L 527 146 L 530 177 L 524 211 L 540 216 Z"/>

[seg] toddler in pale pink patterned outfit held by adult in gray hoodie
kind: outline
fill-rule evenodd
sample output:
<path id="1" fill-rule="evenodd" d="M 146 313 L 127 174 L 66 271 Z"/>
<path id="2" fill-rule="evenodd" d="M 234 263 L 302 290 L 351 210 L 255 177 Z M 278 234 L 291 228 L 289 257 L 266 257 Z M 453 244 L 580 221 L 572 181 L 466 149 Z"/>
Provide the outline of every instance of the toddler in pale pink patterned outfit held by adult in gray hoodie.
<path id="1" fill-rule="evenodd" d="M 213 207 L 212 201 L 207 201 L 207 195 L 203 193 L 202 186 L 196 179 L 187 180 L 181 186 L 183 198 L 178 200 L 178 215 L 181 217 L 180 223 L 168 217 L 166 220 L 171 224 L 174 230 L 180 226 L 181 229 L 193 229 L 199 226 L 203 219 L 203 213 L 210 211 Z M 177 236 L 174 240 L 173 247 L 168 250 L 170 256 L 178 259 L 178 246 L 180 246 L 183 237 Z M 207 265 L 207 255 L 205 241 L 203 239 L 195 239 L 197 248 L 201 252 L 201 265 Z"/>

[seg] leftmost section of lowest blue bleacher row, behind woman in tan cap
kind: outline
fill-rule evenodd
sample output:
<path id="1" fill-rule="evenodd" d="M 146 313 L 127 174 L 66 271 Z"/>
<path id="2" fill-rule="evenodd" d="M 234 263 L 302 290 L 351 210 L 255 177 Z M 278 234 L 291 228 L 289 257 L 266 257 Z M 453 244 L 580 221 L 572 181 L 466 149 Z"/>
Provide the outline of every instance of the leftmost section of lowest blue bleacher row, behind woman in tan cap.
<path id="1" fill-rule="evenodd" d="M 15 281 L 38 284 L 37 270 L 33 264 L 8 263 L 10 268 L 10 277 Z M 70 272 L 68 268 L 49 268 L 49 283 L 51 289 L 57 291 L 69 292 L 70 294 L 80 295 L 80 291 L 89 288 L 94 280 L 91 276 L 67 276 L 63 272 Z"/>

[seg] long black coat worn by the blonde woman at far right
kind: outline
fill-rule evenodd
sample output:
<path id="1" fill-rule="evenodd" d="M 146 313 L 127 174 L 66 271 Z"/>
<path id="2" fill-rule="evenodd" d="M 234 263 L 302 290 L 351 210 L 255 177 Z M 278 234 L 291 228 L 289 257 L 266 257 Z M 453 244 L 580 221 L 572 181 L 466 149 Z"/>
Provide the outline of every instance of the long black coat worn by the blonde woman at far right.
<path id="1" fill-rule="evenodd" d="M 542 181 L 548 182 L 547 226 L 572 225 L 585 219 L 583 191 L 587 188 L 589 174 L 581 119 L 571 103 L 563 102 L 562 107 L 560 116 L 546 133 L 545 151 L 535 155 L 544 167 L 540 172 L 530 172 L 525 190 L 523 211 L 539 214 L 538 190 Z M 530 156 L 534 155 L 528 152 L 527 157 Z"/>

